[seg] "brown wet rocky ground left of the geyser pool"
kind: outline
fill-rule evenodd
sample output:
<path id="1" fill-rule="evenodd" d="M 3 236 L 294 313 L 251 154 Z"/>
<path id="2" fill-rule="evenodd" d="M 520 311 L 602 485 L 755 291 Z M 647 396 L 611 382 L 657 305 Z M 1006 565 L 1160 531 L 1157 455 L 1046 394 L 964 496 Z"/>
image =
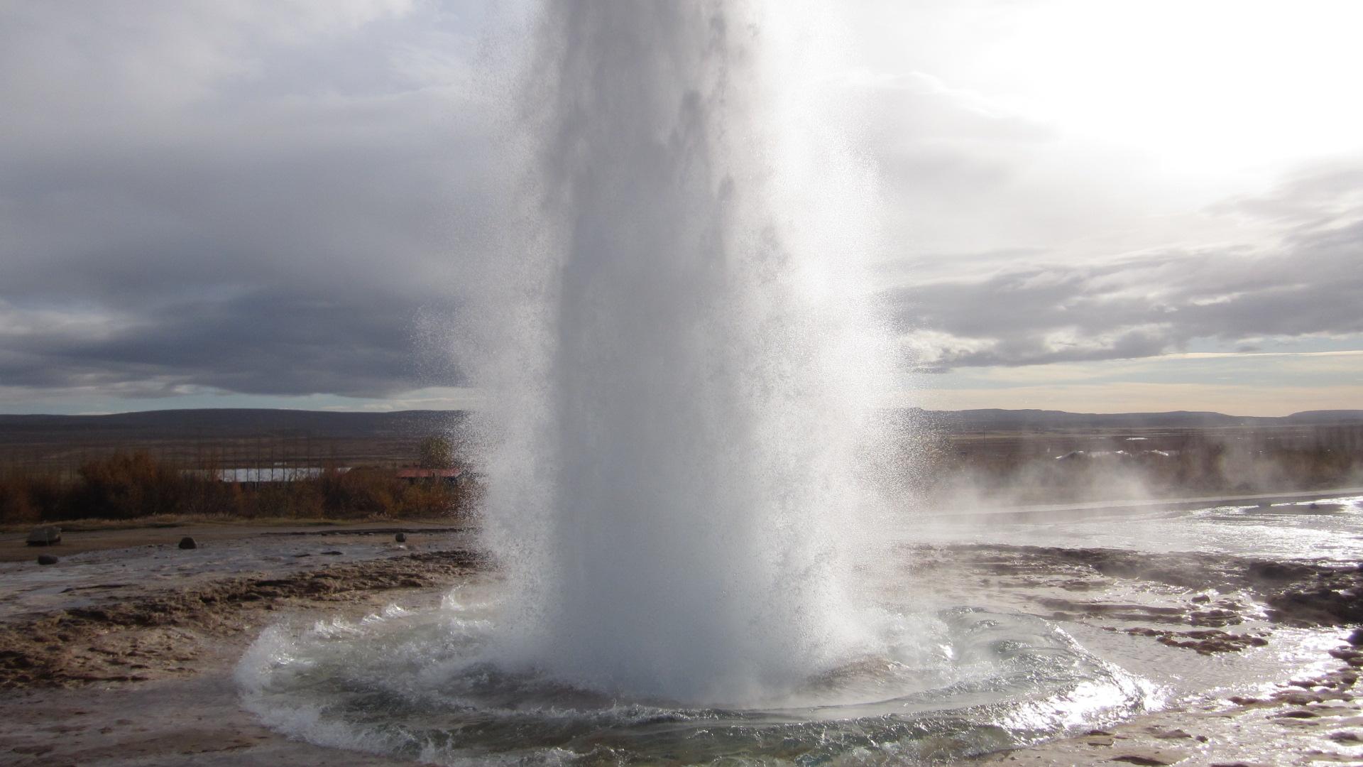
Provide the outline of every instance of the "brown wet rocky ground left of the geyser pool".
<path id="1" fill-rule="evenodd" d="M 0 763 L 391 764 L 264 729 L 232 673 L 278 620 L 428 606 L 477 566 L 465 531 L 399 531 L 241 525 L 194 550 L 87 540 L 57 565 L 0 565 Z"/>

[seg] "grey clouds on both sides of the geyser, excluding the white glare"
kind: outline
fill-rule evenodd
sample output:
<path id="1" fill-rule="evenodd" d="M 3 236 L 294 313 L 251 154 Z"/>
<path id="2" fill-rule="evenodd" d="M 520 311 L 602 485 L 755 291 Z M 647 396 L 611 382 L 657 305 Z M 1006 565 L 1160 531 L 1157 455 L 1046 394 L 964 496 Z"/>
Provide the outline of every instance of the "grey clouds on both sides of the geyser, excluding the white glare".
<path id="1" fill-rule="evenodd" d="M 499 267 L 488 243 L 514 180 L 489 151 L 504 94 L 484 70 L 508 53 L 483 35 L 497 12 L 0 5 L 5 399 L 397 401 L 461 385 L 442 328 L 462 287 Z M 928 49 L 946 45 L 931 23 L 915 29 Z M 900 56 L 891 31 L 882 42 Z M 951 46 L 977 26 L 957 31 Z M 1089 153 L 1063 126 L 958 85 L 987 81 L 935 66 L 969 50 L 893 56 L 876 66 L 906 74 L 853 70 L 833 85 L 864 113 L 856 141 L 885 207 L 861 213 L 887 220 L 879 278 L 921 368 L 1363 333 L 1363 165 L 1307 168 L 1202 216 L 1269 239 L 1103 248 L 1092 242 L 1111 232 L 1146 244 L 1160 209 L 1149 190 L 1124 197 L 1130 158 Z M 980 252 L 934 255 L 966 250 Z"/>

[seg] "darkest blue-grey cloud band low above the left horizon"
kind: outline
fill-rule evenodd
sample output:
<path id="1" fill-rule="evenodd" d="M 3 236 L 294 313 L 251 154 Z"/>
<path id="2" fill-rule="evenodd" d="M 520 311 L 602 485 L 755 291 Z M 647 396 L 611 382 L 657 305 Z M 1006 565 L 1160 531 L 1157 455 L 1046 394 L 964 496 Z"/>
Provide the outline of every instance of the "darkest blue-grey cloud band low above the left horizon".
<path id="1" fill-rule="evenodd" d="M 300 291 L 169 303 L 98 333 L 53 328 L 7 338 L 0 379 L 31 388 L 149 379 L 166 393 L 391 393 L 413 373 L 412 321 L 394 307 L 406 304 Z"/>

